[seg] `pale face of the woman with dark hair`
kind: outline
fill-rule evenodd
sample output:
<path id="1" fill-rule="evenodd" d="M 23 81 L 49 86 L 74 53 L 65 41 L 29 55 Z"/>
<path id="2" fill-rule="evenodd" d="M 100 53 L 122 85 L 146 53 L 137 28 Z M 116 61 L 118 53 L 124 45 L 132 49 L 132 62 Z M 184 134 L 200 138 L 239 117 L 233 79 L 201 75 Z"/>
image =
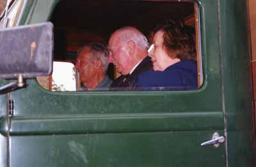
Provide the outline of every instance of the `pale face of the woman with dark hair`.
<path id="1" fill-rule="evenodd" d="M 157 31 L 153 39 L 154 49 L 149 52 L 149 56 L 153 62 L 154 71 L 165 70 L 169 66 L 168 62 L 171 60 L 163 46 L 163 35 L 163 31 Z"/>

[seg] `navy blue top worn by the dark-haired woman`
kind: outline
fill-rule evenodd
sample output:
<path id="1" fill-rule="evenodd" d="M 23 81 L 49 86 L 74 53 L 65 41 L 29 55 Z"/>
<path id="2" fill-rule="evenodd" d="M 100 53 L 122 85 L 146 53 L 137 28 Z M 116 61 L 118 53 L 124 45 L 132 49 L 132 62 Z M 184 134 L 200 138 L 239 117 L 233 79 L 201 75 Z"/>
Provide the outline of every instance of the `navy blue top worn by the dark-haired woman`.
<path id="1" fill-rule="evenodd" d="M 197 88 L 196 62 L 182 60 L 163 72 L 147 71 L 138 76 L 137 90 L 195 90 Z"/>

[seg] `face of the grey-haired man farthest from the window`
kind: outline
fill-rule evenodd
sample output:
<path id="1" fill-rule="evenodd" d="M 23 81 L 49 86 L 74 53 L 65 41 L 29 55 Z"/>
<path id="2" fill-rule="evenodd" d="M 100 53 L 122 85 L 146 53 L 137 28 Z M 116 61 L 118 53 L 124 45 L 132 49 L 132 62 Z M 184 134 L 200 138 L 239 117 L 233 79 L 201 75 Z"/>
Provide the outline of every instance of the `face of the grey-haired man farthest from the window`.
<path id="1" fill-rule="evenodd" d="M 90 48 L 86 48 L 83 51 L 79 52 L 77 56 L 76 69 L 79 72 L 80 81 L 82 83 L 87 83 L 93 79 L 95 75 L 95 70 L 93 68 L 93 62 L 90 59 Z"/>

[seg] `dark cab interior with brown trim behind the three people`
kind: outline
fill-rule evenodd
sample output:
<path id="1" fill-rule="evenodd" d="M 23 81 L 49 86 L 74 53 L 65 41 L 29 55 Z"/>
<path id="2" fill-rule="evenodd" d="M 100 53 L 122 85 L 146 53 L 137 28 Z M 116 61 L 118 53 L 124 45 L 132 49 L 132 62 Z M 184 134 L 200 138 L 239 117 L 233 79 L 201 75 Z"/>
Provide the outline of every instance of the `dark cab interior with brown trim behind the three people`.
<path id="1" fill-rule="evenodd" d="M 124 26 L 140 29 L 150 42 L 150 32 L 157 24 L 169 19 L 182 20 L 195 31 L 199 87 L 202 84 L 202 65 L 198 49 L 199 17 L 197 5 L 193 1 L 76 0 L 71 3 L 69 0 L 61 0 L 56 4 L 51 16 L 51 22 L 54 24 L 54 61 L 74 64 L 77 50 L 84 44 L 108 44 L 111 33 Z M 111 64 L 108 75 L 112 79 L 118 76 Z M 76 81 L 79 88 L 79 77 Z M 54 90 L 51 77 L 39 77 L 38 82 L 44 88 Z"/>

